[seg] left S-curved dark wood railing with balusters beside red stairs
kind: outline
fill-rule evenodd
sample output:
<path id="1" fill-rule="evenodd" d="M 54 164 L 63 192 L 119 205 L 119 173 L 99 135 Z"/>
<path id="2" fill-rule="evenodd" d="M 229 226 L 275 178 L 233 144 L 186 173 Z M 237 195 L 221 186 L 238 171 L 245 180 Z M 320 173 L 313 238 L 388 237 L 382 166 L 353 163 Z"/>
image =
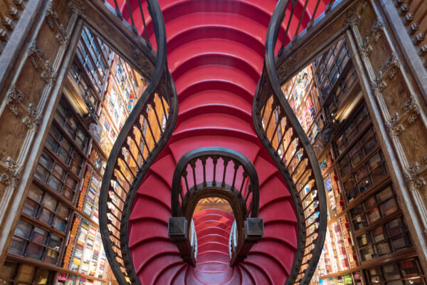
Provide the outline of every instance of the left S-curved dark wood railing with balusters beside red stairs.
<path id="1" fill-rule="evenodd" d="M 129 8 L 129 1 L 126 1 L 126 4 Z M 139 43 L 144 43 L 141 53 L 146 56 L 149 63 L 154 65 L 154 71 L 147 75 L 149 85 L 135 104 L 112 147 L 100 192 L 102 244 L 115 278 L 121 285 L 140 284 L 128 247 L 130 211 L 137 187 L 172 135 L 178 113 L 176 90 L 167 69 L 166 32 L 162 11 L 158 2 L 154 0 L 144 2 L 147 5 L 144 7 L 140 0 L 138 4 L 139 16 L 144 27 L 146 26 L 144 14 L 149 14 L 152 18 L 157 41 L 155 61 L 150 60 L 153 57 L 147 53 L 152 51 L 147 33 L 145 33 L 146 39 L 139 36 L 132 16 L 130 16 L 131 23 L 125 23 L 125 26 L 134 33 L 135 41 L 138 41 L 135 46 L 139 47 Z M 115 11 L 116 16 L 123 21 L 117 1 L 115 1 L 115 9 L 106 2 L 105 5 L 112 13 Z M 146 31 L 145 28 L 144 31 Z"/>

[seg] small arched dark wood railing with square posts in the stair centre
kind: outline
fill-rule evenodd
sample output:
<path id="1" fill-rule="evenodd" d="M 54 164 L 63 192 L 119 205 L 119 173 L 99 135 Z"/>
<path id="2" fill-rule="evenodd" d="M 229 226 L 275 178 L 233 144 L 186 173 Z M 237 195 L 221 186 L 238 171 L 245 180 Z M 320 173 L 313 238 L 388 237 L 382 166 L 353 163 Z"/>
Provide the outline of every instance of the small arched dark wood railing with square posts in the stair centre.
<path id="1" fill-rule="evenodd" d="M 190 246 L 190 223 L 197 202 L 205 197 L 226 199 L 236 221 L 236 246 L 231 248 L 231 266 L 246 258 L 263 236 L 263 219 L 258 218 L 259 182 L 255 167 L 240 152 L 224 147 L 201 147 L 181 157 L 172 180 L 171 238 L 183 259 L 196 264 Z M 257 231 L 258 229 L 258 231 Z"/>

